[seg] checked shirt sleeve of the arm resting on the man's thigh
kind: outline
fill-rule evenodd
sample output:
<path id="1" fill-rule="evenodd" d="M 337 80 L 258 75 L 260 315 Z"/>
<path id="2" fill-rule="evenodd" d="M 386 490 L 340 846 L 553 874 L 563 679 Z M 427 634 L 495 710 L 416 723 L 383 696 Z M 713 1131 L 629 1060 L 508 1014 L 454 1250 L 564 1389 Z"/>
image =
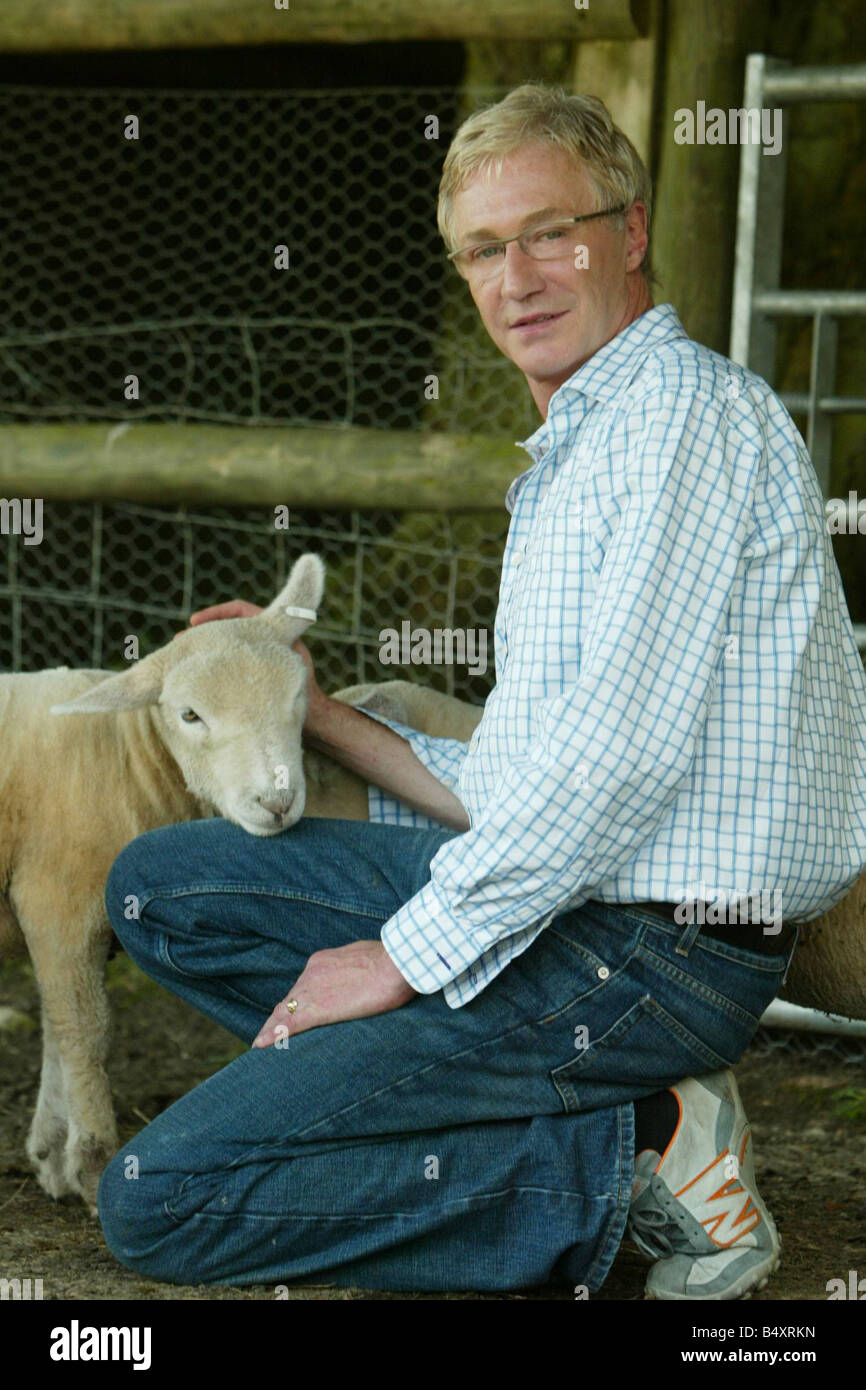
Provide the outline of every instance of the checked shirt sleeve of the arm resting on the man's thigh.
<path id="1" fill-rule="evenodd" d="M 430 881 L 382 927 L 421 994 L 474 980 L 482 956 L 489 983 L 509 958 L 499 941 L 523 934 L 513 945 L 525 949 L 527 929 L 591 898 L 653 834 L 692 767 L 762 449 L 724 403 L 684 391 L 623 411 L 619 449 L 627 482 L 580 677 L 532 705 L 532 737 L 482 815 L 441 847 Z"/>

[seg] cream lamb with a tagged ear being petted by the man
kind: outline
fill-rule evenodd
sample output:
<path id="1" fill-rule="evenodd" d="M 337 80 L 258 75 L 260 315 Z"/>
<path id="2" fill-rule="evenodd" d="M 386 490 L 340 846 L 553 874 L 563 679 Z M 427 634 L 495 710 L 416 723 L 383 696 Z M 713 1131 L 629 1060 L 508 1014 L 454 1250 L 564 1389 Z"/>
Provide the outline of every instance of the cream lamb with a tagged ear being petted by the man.
<path id="1" fill-rule="evenodd" d="M 28 1155 L 51 1197 L 76 1193 L 95 1211 L 117 1150 L 103 895 L 124 845 L 213 815 L 256 835 L 289 830 L 304 813 L 367 819 L 366 783 L 302 749 L 306 667 L 292 642 L 314 620 L 322 587 L 321 560 L 304 555 L 257 617 L 189 628 L 128 671 L 0 676 L 0 954 L 24 938 L 36 973 L 43 1063 Z M 403 723 L 414 702 L 430 731 L 436 713 L 439 731 L 450 731 L 448 696 L 385 685 L 336 698 L 368 701 Z"/>

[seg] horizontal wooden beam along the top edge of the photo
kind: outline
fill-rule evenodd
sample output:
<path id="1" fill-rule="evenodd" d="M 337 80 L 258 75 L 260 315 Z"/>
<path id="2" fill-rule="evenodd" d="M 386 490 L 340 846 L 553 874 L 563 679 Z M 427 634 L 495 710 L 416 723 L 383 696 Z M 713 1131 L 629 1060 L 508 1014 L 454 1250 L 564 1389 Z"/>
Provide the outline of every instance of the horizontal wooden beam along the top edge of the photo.
<path id="1" fill-rule="evenodd" d="M 391 39 L 634 39 L 646 0 L 3 0 L 0 51 Z"/>

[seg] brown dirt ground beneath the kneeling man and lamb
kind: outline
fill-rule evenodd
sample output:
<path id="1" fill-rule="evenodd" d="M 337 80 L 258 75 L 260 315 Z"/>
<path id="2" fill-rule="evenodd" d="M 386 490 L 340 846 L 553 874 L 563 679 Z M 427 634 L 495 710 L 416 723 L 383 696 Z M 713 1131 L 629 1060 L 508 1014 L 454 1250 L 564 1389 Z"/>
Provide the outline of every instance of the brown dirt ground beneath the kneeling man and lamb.
<path id="1" fill-rule="evenodd" d="M 110 1073 L 121 1140 L 126 1143 L 192 1086 L 242 1051 L 242 1045 L 158 988 L 124 955 L 108 966 L 114 1011 Z M 24 1152 L 39 1076 L 38 1001 L 29 966 L 0 969 L 0 1002 L 29 1016 L 0 1033 L 0 1276 L 43 1277 L 43 1295 L 111 1300 L 272 1300 L 254 1289 L 178 1287 L 143 1279 L 118 1265 L 99 1223 L 82 1202 L 51 1201 L 38 1187 Z M 167 1045 L 167 1040 L 168 1045 Z M 760 1191 L 783 1238 L 778 1273 L 758 1300 L 826 1300 L 827 1280 L 866 1273 L 865 1068 L 827 1052 L 781 1052 L 753 1045 L 737 1068 L 752 1122 Z M 646 1264 L 623 1244 L 598 1300 L 642 1297 Z M 406 1294 L 300 1287 L 295 1300 L 381 1300 Z M 491 1298 L 428 1294 L 418 1298 Z M 570 1300 L 564 1286 L 527 1290 L 535 1300 Z"/>

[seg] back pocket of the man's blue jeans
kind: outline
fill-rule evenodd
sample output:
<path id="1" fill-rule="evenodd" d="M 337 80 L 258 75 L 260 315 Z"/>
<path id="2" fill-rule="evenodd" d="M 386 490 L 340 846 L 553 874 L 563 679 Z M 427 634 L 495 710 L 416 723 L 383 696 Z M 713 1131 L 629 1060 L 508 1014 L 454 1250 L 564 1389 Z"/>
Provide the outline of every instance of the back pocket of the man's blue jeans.
<path id="1" fill-rule="evenodd" d="M 699 1020 L 692 1020 L 699 1026 Z M 717 1029 L 712 1030 L 717 1041 Z M 652 1095 L 687 1076 L 731 1066 L 751 1037 L 746 1024 L 726 1022 L 726 1054 L 716 1051 L 681 1019 L 644 994 L 580 1055 L 553 1068 L 550 1080 L 566 1111 L 592 1111 Z"/>

